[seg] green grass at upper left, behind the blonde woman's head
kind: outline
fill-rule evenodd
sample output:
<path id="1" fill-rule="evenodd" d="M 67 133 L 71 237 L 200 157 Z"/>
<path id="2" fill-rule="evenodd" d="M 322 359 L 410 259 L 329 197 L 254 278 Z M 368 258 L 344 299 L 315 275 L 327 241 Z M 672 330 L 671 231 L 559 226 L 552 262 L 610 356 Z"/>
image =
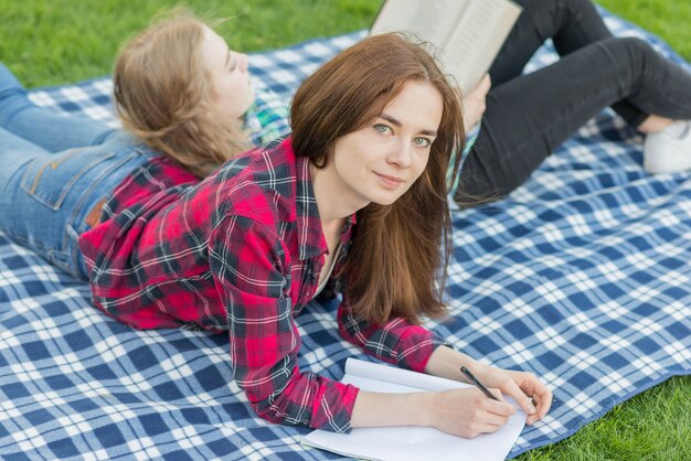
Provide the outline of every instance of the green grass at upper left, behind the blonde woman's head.
<path id="1" fill-rule="evenodd" d="M 0 61 L 28 87 L 110 73 L 119 44 L 143 29 L 168 0 L 0 0 Z M 198 0 L 199 14 L 225 18 L 219 28 L 243 51 L 286 46 L 365 28 L 378 2 Z"/>

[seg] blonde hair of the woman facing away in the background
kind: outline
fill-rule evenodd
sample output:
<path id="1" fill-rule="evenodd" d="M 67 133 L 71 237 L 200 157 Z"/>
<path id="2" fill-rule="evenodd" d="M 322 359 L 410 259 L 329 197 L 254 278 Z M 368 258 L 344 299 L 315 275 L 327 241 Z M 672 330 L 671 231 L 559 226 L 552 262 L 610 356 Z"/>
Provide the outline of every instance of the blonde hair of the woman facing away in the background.
<path id="1" fill-rule="evenodd" d="M 176 12 L 131 40 L 114 69 L 116 111 L 143 143 L 203 178 L 252 147 L 241 120 L 213 114 L 205 24 Z"/>

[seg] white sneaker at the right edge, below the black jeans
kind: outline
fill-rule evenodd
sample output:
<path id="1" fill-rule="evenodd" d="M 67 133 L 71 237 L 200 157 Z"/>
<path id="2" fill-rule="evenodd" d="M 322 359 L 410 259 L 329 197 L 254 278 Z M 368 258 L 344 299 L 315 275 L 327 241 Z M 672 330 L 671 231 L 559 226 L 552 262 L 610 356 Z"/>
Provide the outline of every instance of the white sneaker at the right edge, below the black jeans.
<path id="1" fill-rule="evenodd" d="M 691 170 L 691 120 L 674 121 L 646 136 L 644 169 L 653 174 Z"/>

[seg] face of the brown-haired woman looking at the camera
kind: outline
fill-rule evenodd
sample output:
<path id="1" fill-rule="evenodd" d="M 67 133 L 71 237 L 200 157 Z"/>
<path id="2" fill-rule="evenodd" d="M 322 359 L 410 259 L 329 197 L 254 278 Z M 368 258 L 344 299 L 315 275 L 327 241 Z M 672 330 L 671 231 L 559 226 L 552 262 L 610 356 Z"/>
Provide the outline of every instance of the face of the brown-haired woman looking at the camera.
<path id="1" fill-rule="evenodd" d="M 327 167 L 333 190 L 360 207 L 395 202 L 425 170 L 443 107 L 434 86 L 406 83 L 376 119 L 336 140 Z"/>

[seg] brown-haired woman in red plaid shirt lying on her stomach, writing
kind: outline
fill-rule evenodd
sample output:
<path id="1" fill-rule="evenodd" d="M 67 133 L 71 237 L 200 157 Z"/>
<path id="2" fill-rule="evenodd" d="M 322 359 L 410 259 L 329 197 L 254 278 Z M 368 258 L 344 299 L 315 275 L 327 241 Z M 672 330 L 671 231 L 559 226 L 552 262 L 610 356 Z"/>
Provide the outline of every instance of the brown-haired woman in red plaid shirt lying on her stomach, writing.
<path id="1" fill-rule="evenodd" d="M 71 264 L 88 274 L 93 301 L 108 315 L 139 329 L 227 331 L 234 379 L 270 421 L 334 431 L 432 426 L 472 437 L 514 411 L 475 388 L 375 394 L 300 372 L 294 317 L 337 291 L 348 341 L 458 380 L 465 365 L 515 398 L 529 424 L 544 417 L 551 393 L 533 375 L 480 364 L 417 324 L 444 309 L 435 276 L 449 232 L 446 171 L 456 168 L 449 158 L 464 128 L 457 92 L 433 58 L 400 35 L 366 39 L 300 86 L 291 120 L 291 138 L 227 161 L 201 183 L 143 148 L 118 184 L 99 169 L 60 163 L 84 184 L 62 201 L 67 226 L 35 196 L 61 196 L 64 181 L 6 161 L 14 157 L 6 150 L 0 184 L 28 195 L 21 221 L 77 234 Z M 91 210 L 104 212 L 89 219 Z"/>

